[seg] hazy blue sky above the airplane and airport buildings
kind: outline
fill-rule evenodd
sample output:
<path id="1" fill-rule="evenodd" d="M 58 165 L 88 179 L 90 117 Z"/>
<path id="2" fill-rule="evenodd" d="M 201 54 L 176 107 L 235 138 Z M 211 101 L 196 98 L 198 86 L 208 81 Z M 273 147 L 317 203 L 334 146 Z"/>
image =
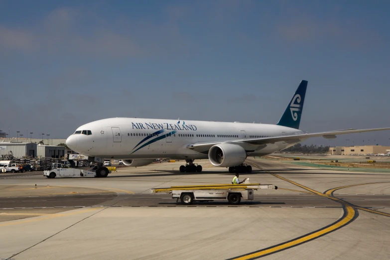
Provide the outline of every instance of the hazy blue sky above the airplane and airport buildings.
<path id="1" fill-rule="evenodd" d="M 110 117 L 276 124 L 302 79 L 302 130 L 389 127 L 389 12 L 385 0 L 0 0 L 0 129 L 62 138 Z"/>

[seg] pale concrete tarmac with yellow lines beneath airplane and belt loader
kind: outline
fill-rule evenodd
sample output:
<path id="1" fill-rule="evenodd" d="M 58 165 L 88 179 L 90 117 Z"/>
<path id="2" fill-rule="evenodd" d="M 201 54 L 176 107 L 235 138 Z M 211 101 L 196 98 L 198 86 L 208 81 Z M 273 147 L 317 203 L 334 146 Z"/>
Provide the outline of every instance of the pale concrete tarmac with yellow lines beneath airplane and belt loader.
<path id="1" fill-rule="evenodd" d="M 248 158 L 255 200 L 184 206 L 151 188 L 231 183 L 195 161 L 118 168 L 107 178 L 0 174 L 0 259 L 390 259 L 390 172 Z M 36 186 L 35 186 L 36 185 Z"/>

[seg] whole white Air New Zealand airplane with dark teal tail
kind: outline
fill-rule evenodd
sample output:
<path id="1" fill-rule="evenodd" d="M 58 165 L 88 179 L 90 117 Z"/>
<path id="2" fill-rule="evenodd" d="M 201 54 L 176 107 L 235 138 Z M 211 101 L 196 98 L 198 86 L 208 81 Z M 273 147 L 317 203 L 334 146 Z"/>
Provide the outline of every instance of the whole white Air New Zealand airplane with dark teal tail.
<path id="1" fill-rule="evenodd" d="M 390 130 L 345 129 L 308 133 L 299 130 L 307 81 L 302 80 L 276 125 L 169 119 L 110 118 L 85 124 L 66 139 L 74 151 L 98 162 L 98 177 L 107 177 L 104 159 L 122 159 L 128 166 L 152 163 L 155 158 L 182 159 L 180 172 L 201 172 L 194 160 L 209 159 L 229 172 L 251 172 L 248 156 L 264 156 L 310 137 Z"/>

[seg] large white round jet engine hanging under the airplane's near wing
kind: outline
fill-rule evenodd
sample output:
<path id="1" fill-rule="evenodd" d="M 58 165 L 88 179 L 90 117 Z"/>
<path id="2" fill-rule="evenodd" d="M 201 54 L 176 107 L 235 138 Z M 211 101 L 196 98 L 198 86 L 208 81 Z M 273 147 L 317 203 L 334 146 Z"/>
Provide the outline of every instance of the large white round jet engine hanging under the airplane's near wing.
<path id="1" fill-rule="evenodd" d="M 237 166 L 243 163 L 246 158 L 247 152 L 238 144 L 220 143 L 213 145 L 209 150 L 209 160 L 214 166 Z"/>

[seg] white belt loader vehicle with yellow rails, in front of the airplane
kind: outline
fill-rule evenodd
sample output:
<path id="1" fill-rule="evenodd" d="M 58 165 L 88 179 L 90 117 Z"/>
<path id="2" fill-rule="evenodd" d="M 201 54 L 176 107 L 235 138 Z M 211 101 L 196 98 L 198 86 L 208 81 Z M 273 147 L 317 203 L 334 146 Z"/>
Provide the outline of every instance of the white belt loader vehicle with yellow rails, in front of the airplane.
<path id="1" fill-rule="evenodd" d="M 255 184 L 217 184 L 201 186 L 173 186 L 170 188 L 151 189 L 150 193 L 169 193 L 172 199 L 180 199 L 183 205 L 194 201 L 228 200 L 231 205 L 238 205 L 241 199 L 253 200 L 258 189 L 277 189 L 275 185 Z"/>

